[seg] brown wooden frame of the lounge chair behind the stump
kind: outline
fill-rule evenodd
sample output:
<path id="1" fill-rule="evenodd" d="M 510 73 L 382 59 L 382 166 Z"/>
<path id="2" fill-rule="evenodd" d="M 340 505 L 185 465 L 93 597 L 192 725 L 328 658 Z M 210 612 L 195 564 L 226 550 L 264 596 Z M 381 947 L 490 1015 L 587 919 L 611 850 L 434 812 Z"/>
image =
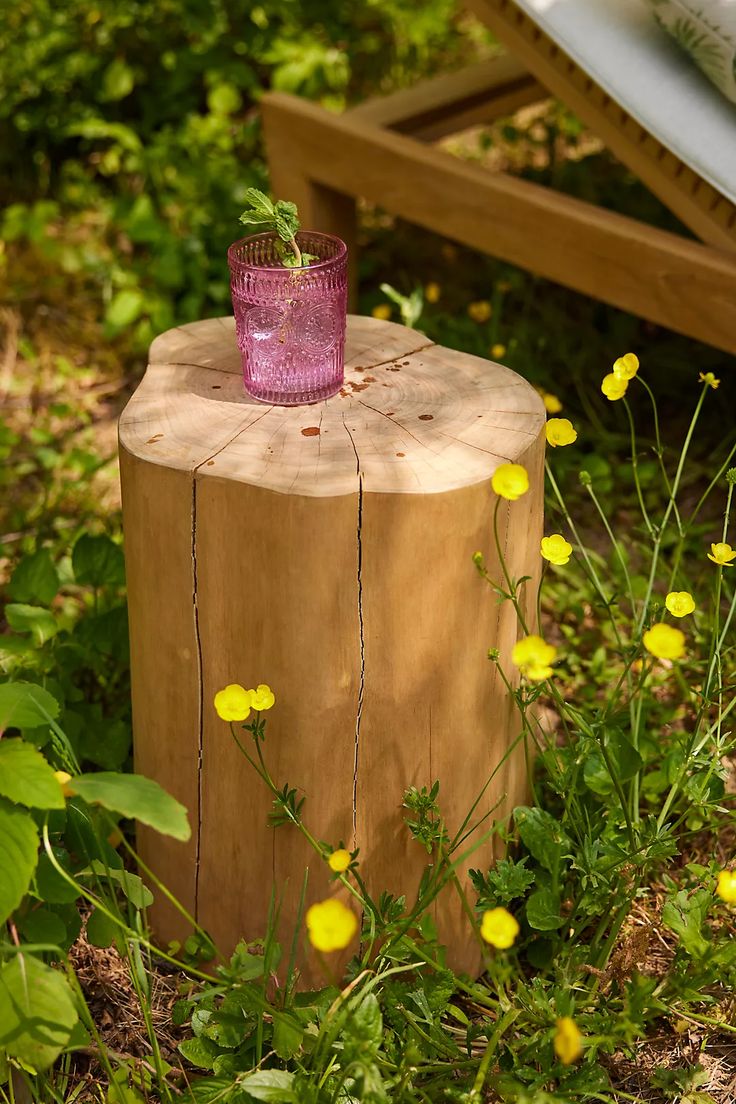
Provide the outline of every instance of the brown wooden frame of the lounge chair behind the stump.
<path id="1" fill-rule="evenodd" d="M 472 0 L 510 54 L 335 115 L 264 96 L 273 191 L 355 257 L 355 200 L 736 352 L 736 208 L 644 130 L 512 0 Z M 433 145 L 552 94 L 701 241 L 659 230 Z M 452 202 L 449 202 L 449 200 Z M 353 273 L 354 279 L 354 273 Z"/>

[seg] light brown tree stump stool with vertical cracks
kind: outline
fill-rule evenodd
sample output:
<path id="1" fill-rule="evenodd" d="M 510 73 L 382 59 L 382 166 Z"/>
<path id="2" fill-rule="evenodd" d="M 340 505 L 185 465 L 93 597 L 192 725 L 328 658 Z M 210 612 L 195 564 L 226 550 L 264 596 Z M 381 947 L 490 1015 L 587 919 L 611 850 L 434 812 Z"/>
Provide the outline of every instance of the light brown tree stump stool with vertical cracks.
<path id="1" fill-rule="evenodd" d="M 268 827 L 270 796 L 213 708 L 230 682 L 268 682 L 274 779 L 306 798 L 318 839 L 360 847 L 370 892 L 410 902 L 427 854 L 403 820 L 406 787 L 439 779 L 450 834 L 499 764 L 482 831 L 526 798 L 520 724 L 488 660 L 498 648 L 511 673 L 516 618 L 472 555 L 501 581 L 490 479 L 523 464 L 531 489 L 502 501 L 499 523 L 511 575 L 531 576 L 533 622 L 538 396 L 500 364 L 351 317 L 340 394 L 267 406 L 245 394 L 220 318 L 157 338 L 119 440 L 136 769 L 192 822 L 189 843 L 141 826 L 143 860 L 225 953 L 265 934 L 271 885 L 288 947 L 307 866 L 307 903 L 335 891 L 296 829 Z M 492 860 L 487 840 L 462 879 Z M 435 919 L 450 964 L 472 972 L 450 889 Z M 161 894 L 152 925 L 161 940 L 185 928 Z"/>

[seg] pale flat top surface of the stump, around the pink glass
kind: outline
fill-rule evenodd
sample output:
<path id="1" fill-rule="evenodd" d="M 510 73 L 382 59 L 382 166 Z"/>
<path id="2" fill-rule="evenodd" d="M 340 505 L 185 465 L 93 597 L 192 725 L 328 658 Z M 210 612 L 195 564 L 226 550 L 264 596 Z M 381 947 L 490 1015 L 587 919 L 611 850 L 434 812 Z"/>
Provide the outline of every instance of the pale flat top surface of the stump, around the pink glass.
<path id="1" fill-rule="evenodd" d="M 150 464 L 282 493 L 435 493 L 519 461 L 544 407 L 515 372 L 394 322 L 350 316 L 342 391 L 269 406 L 243 388 L 233 318 L 168 330 L 119 425 Z"/>

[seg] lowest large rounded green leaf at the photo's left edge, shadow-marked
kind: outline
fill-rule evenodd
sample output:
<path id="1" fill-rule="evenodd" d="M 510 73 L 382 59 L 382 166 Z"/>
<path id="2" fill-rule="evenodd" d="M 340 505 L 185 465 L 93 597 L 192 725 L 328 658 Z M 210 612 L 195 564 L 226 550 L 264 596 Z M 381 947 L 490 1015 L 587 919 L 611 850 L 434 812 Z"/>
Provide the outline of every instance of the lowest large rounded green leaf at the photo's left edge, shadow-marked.
<path id="1" fill-rule="evenodd" d="M 49 1069 L 77 1021 L 62 973 L 32 955 L 15 955 L 0 970 L 0 1047 L 25 1066 Z"/>

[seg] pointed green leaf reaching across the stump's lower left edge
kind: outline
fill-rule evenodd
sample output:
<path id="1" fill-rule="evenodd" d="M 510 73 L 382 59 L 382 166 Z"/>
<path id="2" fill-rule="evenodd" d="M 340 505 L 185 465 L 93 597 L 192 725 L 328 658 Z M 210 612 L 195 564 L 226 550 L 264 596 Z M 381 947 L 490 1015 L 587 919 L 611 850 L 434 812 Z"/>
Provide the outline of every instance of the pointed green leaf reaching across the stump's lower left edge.
<path id="1" fill-rule="evenodd" d="M 152 778 L 100 771 L 72 778 L 68 787 L 87 804 L 140 820 L 163 836 L 188 840 L 192 835 L 184 806 Z"/>

